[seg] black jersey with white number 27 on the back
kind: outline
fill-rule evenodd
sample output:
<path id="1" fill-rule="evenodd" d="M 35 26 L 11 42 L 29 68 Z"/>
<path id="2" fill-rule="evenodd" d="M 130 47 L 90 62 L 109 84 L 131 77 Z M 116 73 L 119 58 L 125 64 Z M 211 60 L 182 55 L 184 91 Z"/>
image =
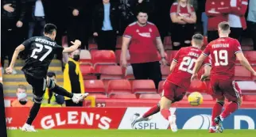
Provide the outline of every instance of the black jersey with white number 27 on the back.
<path id="1" fill-rule="evenodd" d="M 29 55 L 22 70 L 34 78 L 45 78 L 54 54 L 64 49 L 47 36 L 34 36 L 22 44 L 25 46 L 25 53 Z"/>

